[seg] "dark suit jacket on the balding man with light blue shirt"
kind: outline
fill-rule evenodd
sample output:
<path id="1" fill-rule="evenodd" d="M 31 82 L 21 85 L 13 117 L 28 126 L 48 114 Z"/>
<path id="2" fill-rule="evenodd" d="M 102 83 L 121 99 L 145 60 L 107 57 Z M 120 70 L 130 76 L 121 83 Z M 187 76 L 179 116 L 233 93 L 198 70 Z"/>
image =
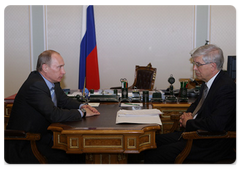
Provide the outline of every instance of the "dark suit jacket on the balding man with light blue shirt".
<path id="1" fill-rule="evenodd" d="M 80 103 L 69 98 L 61 89 L 60 83 L 55 83 L 55 93 L 57 107 L 54 106 L 49 88 L 40 73 L 31 72 L 16 95 L 7 129 L 40 133 L 41 140 L 37 143 L 39 148 L 41 145 L 51 146 L 52 132 L 47 130 L 51 123 L 82 119 L 77 110 Z M 29 145 L 26 142 L 20 143 L 18 142 L 21 146 L 16 151 L 19 155 Z"/>

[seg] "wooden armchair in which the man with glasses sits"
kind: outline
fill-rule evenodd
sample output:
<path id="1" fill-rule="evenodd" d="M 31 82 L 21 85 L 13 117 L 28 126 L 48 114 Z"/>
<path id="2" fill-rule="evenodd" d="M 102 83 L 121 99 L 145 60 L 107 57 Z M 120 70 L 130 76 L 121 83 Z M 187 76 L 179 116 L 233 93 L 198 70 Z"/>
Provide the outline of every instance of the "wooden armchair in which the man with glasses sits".
<path id="1" fill-rule="evenodd" d="M 171 120 L 174 121 L 173 126 L 170 130 L 170 132 L 174 132 L 175 130 L 179 130 L 179 119 L 180 114 L 172 114 L 170 116 Z M 181 164 L 209 164 L 206 162 L 196 162 L 196 161 L 190 161 L 186 160 L 188 154 L 191 151 L 193 140 L 198 139 L 228 139 L 228 138 L 237 138 L 237 132 L 236 131 L 229 131 L 229 132 L 208 132 L 203 130 L 198 131 L 192 131 L 192 132 L 183 132 L 182 138 L 187 140 L 187 144 L 185 148 L 182 150 L 182 152 L 176 157 L 174 164 L 181 165 Z M 236 148 L 234 148 L 234 151 L 236 151 Z M 221 160 L 218 162 L 215 162 L 213 164 L 237 164 L 237 160 Z"/>

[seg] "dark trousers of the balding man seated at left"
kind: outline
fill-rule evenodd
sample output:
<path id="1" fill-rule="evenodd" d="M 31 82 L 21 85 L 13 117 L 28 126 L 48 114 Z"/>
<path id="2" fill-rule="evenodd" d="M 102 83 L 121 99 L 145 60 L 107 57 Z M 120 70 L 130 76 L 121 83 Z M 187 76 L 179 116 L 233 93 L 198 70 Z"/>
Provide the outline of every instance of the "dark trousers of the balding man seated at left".
<path id="1" fill-rule="evenodd" d="M 52 149 L 52 145 L 37 145 L 39 152 L 47 159 L 49 165 L 85 164 L 85 154 L 67 154 L 66 151 Z M 29 141 L 3 141 L 3 165 L 35 165 L 38 160 L 32 153 Z"/>

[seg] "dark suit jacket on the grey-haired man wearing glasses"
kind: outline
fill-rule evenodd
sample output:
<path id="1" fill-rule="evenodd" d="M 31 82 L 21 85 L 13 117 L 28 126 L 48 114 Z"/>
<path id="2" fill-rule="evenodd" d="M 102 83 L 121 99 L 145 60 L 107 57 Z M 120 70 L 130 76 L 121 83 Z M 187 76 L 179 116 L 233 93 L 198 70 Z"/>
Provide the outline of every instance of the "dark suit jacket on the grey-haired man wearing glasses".
<path id="1" fill-rule="evenodd" d="M 202 86 L 203 87 L 203 86 Z M 202 94 L 201 88 L 200 94 Z M 188 112 L 193 112 L 201 96 Z M 207 131 L 237 130 L 237 86 L 226 72 L 220 71 L 198 112 L 196 119 L 187 121 L 186 131 L 198 129 Z"/>

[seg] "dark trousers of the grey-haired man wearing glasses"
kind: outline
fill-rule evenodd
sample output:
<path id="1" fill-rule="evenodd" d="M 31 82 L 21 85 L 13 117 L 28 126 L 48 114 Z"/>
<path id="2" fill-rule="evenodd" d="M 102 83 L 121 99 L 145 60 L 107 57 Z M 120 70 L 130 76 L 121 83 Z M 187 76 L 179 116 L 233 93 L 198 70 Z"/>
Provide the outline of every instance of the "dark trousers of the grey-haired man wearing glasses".
<path id="1" fill-rule="evenodd" d="M 182 132 L 156 135 L 156 149 L 146 150 L 145 164 L 174 164 L 178 154 L 185 148 L 187 141 L 180 138 Z M 224 159 L 237 157 L 233 148 L 236 139 L 202 139 L 194 140 L 191 151 L 186 159 L 192 161 L 213 163 Z M 235 147 L 236 148 L 236 147 Z"/>

